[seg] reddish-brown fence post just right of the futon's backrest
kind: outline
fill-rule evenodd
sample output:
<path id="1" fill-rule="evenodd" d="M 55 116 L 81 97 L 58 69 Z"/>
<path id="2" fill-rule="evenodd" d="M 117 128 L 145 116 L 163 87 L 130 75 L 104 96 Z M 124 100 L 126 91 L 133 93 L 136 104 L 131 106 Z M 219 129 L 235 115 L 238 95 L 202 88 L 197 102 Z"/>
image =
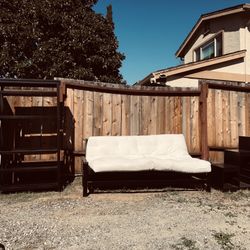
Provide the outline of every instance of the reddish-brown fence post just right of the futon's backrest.
<path id="1" fill-rule="evenodd" d="M 207 96 L 208 96 L 208 84 L 200 83 L 201 94 L 200 94 L 200 140 L 201 140 L 201 158 L 208 160 L 208 137 L 207 137 Z"/>

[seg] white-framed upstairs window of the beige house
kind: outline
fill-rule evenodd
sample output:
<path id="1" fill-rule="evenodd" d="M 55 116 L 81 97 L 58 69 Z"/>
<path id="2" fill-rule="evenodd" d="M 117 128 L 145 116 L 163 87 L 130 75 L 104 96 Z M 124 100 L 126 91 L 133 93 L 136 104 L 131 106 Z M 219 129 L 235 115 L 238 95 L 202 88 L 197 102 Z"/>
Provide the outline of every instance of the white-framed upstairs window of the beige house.
<path id="1" fill-rule="evenodd" d="M 206 60 L 222 55 L 222 34 L 214 37 L 194 51 L 194 60 Z"/>

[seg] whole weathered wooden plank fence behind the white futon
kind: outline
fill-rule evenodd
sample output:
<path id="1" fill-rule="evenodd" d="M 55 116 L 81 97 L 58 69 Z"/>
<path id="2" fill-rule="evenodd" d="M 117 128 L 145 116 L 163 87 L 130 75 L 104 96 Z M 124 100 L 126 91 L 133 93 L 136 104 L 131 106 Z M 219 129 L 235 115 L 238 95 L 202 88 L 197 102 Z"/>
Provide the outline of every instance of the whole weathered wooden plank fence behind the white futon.
<path id="1" fill-rule="evenodd" d="M 199 89 L 128 87 L 60 79 L 72 126 L 75 151 L 95 135 L 183 133 L 191 154 L 223 161 L 223 149 L 238 146 L 239 135 L 250 135 L 250 88 L 245 85 L 201 83 Z M 53 106 L 53 98 L 9 98 L 11 106 Z M 70 125 L 69 125 L 70 124 Z M 206 144 L 207 143 L 207 144 Z M 218 153 L 219 152 L 219 153 Z M 80 171 L 80 158 L 76 159 Z"/>

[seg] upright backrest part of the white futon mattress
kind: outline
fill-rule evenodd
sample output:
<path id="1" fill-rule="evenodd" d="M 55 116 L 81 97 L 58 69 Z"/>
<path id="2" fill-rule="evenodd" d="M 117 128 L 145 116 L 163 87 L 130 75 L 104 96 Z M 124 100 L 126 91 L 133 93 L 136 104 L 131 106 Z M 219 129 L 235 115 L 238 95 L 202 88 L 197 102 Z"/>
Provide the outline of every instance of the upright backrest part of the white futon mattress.
<path id="1" fill-rule="evenodd" d="M 182 134 L 140 136 L 93 136 L 87 144 L 87 159 L 105 156 L 154 156 L 188 154 Z"/>

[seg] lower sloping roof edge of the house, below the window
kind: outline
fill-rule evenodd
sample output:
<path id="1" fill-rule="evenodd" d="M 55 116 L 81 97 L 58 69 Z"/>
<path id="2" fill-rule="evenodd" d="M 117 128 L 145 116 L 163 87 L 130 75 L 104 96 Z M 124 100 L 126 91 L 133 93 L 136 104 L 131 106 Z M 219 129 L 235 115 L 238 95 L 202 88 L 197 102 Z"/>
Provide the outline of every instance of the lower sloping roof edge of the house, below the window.
<path id="1" fill-rule="evenodd" d="M 228 62 L 233 62 L 235 60 L 243 59 L 245 55 L 246 55 L 246 50 L 240 50 L 240 51 L 229 53 L 226 55 L 213 57 L 207 60 L 191 62 L 187 64 L 182 64 L 176 67 L 158 70 L 146 76 L 138 84 L 146 85 L 146 84 L 150 84 L 153 79 L 155 79 L 156 81 L 156 79 L 159 79 L 161 77 L 166 78 L 166 77 L 170 77 L 170 76 L 174 76 L 178 74 L 181 74 L 181 75 L 189 74 L 195 70 L 205 69 L 209 66 L 216 66 L 221 63 L 228 63 Z"/>

